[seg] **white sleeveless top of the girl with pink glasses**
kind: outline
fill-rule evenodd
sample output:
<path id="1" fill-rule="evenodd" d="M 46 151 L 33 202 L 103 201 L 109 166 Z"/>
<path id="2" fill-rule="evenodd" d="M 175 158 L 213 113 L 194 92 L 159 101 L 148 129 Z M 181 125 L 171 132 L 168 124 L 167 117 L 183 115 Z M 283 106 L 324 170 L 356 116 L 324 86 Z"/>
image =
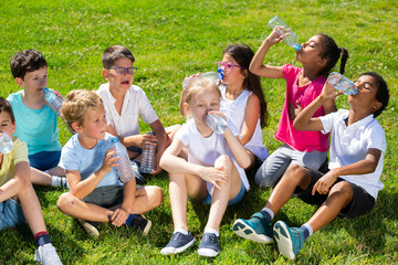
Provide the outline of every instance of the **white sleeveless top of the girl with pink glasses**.
<path id="1" fill-rule="evenodd" d="M 252 92 L 243 89 L 242 93 L 235 99 L 228 99 L 226 96 L 227 86 L 220 86 L 221 92 L 221 104 L 220 112 L 223 113 L 232 123 L 235 125 L 238 130 L 241 132 L 244 123 L 244 112 L 248 105 L 249 96 Z M 260 117 L 256 121 L 254 134 L 250 141 L 244 145 L 244 148 L 253 152 L 258 158 L 264 161 L 270 155 L 263 145 L 262 130 L 260 125 Z"/>

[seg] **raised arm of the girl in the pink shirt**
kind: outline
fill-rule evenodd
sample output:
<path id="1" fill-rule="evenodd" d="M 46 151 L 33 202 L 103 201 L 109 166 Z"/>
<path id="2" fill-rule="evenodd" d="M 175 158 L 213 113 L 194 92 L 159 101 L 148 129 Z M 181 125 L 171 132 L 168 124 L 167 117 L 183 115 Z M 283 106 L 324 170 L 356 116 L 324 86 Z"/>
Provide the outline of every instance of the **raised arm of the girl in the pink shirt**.
<path id="1" fill-rule="evenodd" d="M 265 78 L 283 78 L 281 66 L 264 65 L 263 61 L 270 47 L 282 41 L 285 36 L 286 34 L 279 36 L 275 31 L 272 31 L 255 52 L 254 57 L 250 63 L 249 71 Z"/>

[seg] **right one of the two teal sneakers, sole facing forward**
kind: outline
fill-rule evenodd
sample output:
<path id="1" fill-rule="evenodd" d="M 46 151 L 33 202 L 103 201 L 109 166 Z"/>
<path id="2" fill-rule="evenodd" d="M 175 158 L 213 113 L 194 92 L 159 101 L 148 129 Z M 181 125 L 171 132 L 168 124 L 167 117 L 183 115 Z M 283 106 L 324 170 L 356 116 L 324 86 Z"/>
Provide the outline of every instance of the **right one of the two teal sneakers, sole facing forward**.
<path id="1" fill-rule="evenodd" d="M 282 221 L 274 225 L 273 233 L 277 243 L 277 250 L 290 259 L 294 259 L 304 246 L 304 234 L 301 229 L 289 227 Z"/>

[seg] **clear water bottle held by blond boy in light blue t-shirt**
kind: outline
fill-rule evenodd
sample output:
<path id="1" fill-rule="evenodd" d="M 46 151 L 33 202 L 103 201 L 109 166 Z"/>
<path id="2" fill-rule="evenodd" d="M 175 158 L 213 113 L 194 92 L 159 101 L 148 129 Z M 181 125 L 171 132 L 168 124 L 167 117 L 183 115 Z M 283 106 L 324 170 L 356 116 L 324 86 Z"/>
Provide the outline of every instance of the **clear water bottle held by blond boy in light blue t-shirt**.
<path id="1" fill-rule="evenodd" d="M 119 179 L 123 183 L 126 183 L 135 178 L 134 170 L 128 158 L 127 149 L 122 142 L 119 142 L 118 138 L 115 137 L 112 139 L 113 147 L 117 152 L 119 159 L 116 161 L 118 166 L 116 167 Z"/>

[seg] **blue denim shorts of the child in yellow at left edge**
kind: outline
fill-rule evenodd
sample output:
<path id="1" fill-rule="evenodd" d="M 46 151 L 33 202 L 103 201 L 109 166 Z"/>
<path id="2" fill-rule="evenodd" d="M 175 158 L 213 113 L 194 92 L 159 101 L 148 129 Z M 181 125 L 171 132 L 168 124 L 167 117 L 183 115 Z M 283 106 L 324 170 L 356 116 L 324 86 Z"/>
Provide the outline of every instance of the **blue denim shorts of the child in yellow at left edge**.
<path id="1" fill-rule="evenodd" d="M 21 204 L 12 199 L 0 202 L 0 230 L 25 223 Z"/>

